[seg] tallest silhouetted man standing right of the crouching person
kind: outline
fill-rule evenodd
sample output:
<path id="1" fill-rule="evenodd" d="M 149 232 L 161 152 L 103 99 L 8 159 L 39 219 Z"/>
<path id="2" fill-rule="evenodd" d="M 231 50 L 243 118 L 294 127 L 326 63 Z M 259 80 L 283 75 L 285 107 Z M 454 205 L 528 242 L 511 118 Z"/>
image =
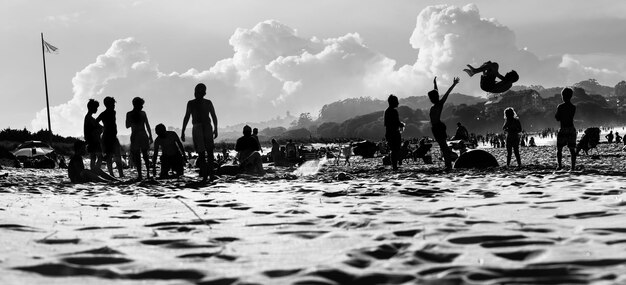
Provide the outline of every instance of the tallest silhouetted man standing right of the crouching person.
<path id="1" fill-rule="evenodd" d="M 217 138 L 217 115 L 211 100 L 204 99 L 206 85 L 199 83 L 194 90 L 195 99 L 187 102 L 187 109 L 183 119 L 183 130 L 180 139 L 185 141 L 185 129 L 191 116 L 193 146 L 198 153 L 200 176 L 202 182 L 207 182 L 207 177 L 215 179 L 213 175 L 213 140 Z"/>

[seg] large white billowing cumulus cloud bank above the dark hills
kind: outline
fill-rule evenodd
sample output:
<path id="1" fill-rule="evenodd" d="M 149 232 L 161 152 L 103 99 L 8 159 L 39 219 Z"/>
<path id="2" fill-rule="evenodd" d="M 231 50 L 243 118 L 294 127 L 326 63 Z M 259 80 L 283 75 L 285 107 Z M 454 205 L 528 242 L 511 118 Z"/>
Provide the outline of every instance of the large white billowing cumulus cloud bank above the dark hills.
<path id="1" fill-rule="evenodd" d="M 113 96 L 121 129 L 130 101 L 139 96 L 146 99 L 153 125 L 179 127 L 186 101 L 193 98 L 199 82 L 207 85 L 207 98 L 224 126 L 287 111 L 315 115 L 324 104 L 350 97 L 423 95 L 432 88 L 433 76 L 441 78 L 442 86 L 461 76 L 458 91 L 482 94 L 479 79 L 468 78 L 462 69 L 486 60 L 499 62 L 505 72 L 517 70 L 520 84 L 566 85 L 590 77 L 617 82 L 624 77 L 624 68 L 594 68 L 572 55 L 538 58 L 517 47 L 512 30 L 495 19 L 481 18 L 475 5 L 425 8 L 409 40 L 419 49 L 418 58 L 412 65 L 397 67 L 393 59 L 368 47 L 358 33 L 303 38 L 294 28 L 270 20 L 237 29 L 229 40 L 232 57 L 206 70 L 166 74 L 137 40 L 120 39 L 76 74 L 74 97 L 52 108 L 52 123 L 57 132 L 81 135 L 88 99 Z M 34 129 L 46 125 L 45 110 L 36 114 L 32 125 Z"/>

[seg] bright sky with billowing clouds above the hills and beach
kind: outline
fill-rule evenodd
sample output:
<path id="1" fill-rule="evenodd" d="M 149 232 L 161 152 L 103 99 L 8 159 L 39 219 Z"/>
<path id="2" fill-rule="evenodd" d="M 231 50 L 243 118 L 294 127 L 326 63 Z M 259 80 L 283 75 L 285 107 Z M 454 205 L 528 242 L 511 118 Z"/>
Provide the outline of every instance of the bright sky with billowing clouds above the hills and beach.
<path id="1" fill-rule="evenodd" d="M 81 136 L 89 99 L 117 100 L 120 134 L 131 100 L 151 125 L 181 127 L 194 86 L 207 85 L 220 126 L 324 104 L 425 95 L 437 76 L 485 96 L 465 64 L 515 69 L 518 84 L 626 79 L 626 1 L 2 0 L 0 128 Z M 101 105 L 98 110 L 103 111 Z"/>

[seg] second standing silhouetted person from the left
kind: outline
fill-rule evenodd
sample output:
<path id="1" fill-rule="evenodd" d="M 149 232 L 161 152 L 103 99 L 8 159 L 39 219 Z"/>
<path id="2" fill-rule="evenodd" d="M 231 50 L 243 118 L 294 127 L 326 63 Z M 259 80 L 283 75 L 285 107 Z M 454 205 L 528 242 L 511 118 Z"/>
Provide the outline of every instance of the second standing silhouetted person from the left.
<path id="1" fill-rule="evenodd" d="M 115 119 L 115 99 L 113 97 L 105 97 L 102 100 L 104 107 L 106 108 L 96 118 L 96 122 L 102 122 L 102 150 L 104 153 L 104 160 L 107 163 L 107 169 L 109 174 L 113 175 L 113 160 L 117 166 L 118 173 L 121 177 L 124 177 L 122 153 L 120 141 L 117 139 L 117 122 Z"/>

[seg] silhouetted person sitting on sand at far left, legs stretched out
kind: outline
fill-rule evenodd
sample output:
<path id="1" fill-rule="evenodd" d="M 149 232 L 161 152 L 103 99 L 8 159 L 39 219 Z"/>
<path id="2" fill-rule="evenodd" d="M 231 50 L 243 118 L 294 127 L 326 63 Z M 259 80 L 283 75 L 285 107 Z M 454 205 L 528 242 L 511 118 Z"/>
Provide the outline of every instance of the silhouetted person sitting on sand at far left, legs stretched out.
<path id="1" fill-rule="evenodd" d="M 72 183 L 88 183 L 88 182 L 119 182 L 115 177 L 106 172 L 91 169 L 85 169 L 83 163 L 83 155 L 85 150 L 84 141 L 76 141 L 74 143 L 74 155 L 70 158 L 70 164 L 67 167 L 67 175 Z"/>

